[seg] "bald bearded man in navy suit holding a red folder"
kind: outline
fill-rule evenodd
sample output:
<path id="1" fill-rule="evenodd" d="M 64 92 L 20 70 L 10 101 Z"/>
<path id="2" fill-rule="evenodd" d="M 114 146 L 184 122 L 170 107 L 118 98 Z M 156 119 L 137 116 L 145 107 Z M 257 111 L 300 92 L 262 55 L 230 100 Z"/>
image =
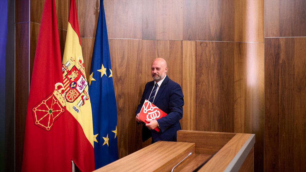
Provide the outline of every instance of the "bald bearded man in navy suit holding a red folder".
<path id="1" fill-rule="evenodd" d="M 160 140 L 176 141 L 176 131 L 181 129 L 179 121 L 183 117 L 184 95 L 180 85 L 169 79 L 167 71 L 166 60 L 163 58 L 153 60 L 151 65 L 153 81 L 148 82 L 144 88 L 136 110 L 136 122 L 139 124 L 142 122 L 138 116 L 146 99 L 167 113 L 167 116 L 157 120 L 147 120 L 148 124 L 143 123 L 143 141 L 150 137 L 152 143 Z M 154 130 L 156 127 L 159 127 L 159 132 Z"/>

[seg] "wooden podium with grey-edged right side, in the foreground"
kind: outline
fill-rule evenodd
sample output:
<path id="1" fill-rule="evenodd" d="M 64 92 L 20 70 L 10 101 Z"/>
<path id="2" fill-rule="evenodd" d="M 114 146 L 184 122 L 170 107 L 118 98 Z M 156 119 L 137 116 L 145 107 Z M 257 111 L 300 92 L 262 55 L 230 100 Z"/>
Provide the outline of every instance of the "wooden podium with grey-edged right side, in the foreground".
<path id="1" fill-rule="evenodd" d="M 177 131 L 177 142 L 158 141 L 95 172 L 102 171 L 253 171 L 254 134 Z"/>

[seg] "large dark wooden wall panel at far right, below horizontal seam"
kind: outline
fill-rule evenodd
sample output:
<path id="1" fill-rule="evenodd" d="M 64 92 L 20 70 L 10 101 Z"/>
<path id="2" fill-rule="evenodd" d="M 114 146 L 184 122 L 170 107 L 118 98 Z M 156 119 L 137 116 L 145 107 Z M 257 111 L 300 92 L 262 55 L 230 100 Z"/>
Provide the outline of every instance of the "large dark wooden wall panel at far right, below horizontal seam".
<path id="1" fill-rule="evenodd" d="M 306 170 L 305 45 L 305 38 L 265 40 L 265 171 Z"/>

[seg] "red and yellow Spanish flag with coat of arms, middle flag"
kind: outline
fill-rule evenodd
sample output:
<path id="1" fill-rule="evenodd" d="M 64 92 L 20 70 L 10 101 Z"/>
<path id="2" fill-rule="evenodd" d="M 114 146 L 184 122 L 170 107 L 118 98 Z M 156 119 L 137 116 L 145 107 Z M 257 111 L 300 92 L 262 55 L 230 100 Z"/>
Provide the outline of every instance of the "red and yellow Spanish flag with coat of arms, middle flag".
<path id="1" fill-rule="evenodd" d="M 77 18 L 75 0 L 70 0 L 70 12 L 68 19 L 66 43 L 62 61 L 64 81 L 64 97 L 66 109 L 75 117 L 83 129 L 82 135 L 86 136 L 87 144 L 90 144 L 91 161 L 90 169 L 94 170 L 93 150 L 93 117 L 91 103 L 88 94 L 88 82 L 85 74 L 84 60 L 82 56 L 81 38 Z M 78 165 L 80 162 L 75 162 Z"/>

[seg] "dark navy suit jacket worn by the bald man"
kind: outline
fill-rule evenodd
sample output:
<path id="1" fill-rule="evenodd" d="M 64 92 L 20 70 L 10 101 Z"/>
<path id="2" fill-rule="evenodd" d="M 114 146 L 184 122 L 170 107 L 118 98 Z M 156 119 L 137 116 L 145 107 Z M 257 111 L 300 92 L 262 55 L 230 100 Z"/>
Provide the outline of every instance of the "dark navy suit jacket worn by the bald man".
<path id="1" fill-rule="evenodd" d="M 140 104 L 137 107 L 136 115 L 140 112 L 144 101 L 149 99 L 154 86 L 154 80 L 146 84 Z M 156 93 L 153 104 L 167 113 L 166 117 L 157 120 L 159 132 L 150 130 L 143 125 L 142 140 L 146 141 L 152 136 L 152 143 L 156 141 L 176 141 L 176 131 L 181 129 L 179 120 L 183 117 L 184 95 L 182 88 L 176 82 L 170 80 L 168 76 L 163 80 Z"/>

